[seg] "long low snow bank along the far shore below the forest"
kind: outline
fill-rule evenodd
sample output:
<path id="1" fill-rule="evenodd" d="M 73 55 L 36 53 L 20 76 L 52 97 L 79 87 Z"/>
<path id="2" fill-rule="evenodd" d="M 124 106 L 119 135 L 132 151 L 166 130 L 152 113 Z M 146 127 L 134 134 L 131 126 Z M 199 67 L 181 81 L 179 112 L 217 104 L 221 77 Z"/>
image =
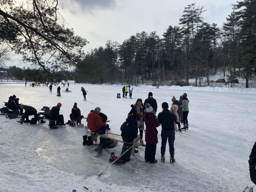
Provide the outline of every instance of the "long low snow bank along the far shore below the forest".
<path id="1" fill-rule="evenodd" d="M 108 85 L 108 84 L 102 84 Z M 109 86 L 109 85 L 108 85 Z M 123 85 L 111 85 L 123 86 Z M 133 87 L 133 86 L 131 86 Z M 156 88 L 152 85 L 139 85 L 138 87 Z M 228 87 L 193 87 L 193 86 L 160 86 L 160 89 L 179 89 L 179 90 L 192 90 L 192 91 L 217 91 L 217 92 L 231 92 L 231 93 L 256 93 L 256 88 L 228 88 Z M 133 89 L 135 89 L 133 87 Z"/>

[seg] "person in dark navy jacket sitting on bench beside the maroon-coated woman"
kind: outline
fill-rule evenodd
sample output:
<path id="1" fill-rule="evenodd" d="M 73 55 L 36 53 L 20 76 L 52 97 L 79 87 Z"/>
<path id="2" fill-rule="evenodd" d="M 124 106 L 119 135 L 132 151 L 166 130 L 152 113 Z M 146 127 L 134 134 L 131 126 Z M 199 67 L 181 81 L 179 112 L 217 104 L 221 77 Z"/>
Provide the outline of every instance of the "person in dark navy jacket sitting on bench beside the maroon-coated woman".
<path id="1" fill-rule="evenodd" d="M 121 136 L 125 143 L 137 142 L 140 140 L 140 135 L 137 134 L 137 127 L 134 125 L 134 116 L 128 115 L 126 121 L 120 127 Z M 135 150 L 138 153 L 138 150 Z"/>

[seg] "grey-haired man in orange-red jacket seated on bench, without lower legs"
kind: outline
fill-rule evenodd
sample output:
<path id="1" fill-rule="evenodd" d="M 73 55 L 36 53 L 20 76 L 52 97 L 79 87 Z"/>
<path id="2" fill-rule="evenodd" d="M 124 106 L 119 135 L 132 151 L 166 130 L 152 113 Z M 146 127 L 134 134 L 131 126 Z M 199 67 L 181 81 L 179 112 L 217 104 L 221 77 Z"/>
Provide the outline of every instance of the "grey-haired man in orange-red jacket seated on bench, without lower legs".
<path id="1" fill-rule="evenodd" d="M 106 129 L 109 129 L 109 125 L 107 123 L 102 122 L 103 119 L 100 117 L 100 114 L 99 114 L 100 112 L 101 112 L 101 108 L 96 107 L 93 112 L 90 112 L 88 114 L 88 117 L 86 119 L 86 121 L 88 122 L 89 129 L 92 132 L 95 132 L 95 135 L 100 131 L 101 131 L 101 133 L 99 133 L 100 135 L 105 134 Z"/>

